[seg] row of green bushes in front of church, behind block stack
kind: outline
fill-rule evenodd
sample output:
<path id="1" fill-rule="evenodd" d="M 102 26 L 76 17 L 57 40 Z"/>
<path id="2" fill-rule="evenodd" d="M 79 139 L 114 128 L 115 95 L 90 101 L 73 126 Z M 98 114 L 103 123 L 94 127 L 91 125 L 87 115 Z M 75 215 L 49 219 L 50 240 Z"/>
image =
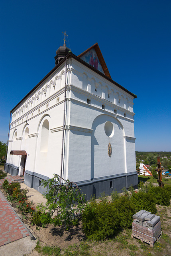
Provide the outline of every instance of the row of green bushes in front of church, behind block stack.
<path id="1" fill-rule="evenodd" d="M 139 192 L 132 191 L 118 196 L 113 193 L 112 202 L 105 196 L 104 200 L 92 200 L 83 211 L 83 231 L 94 240 L 104 240 L 116 236 L 122 228 L 132 226 L 132 216 L 140 210 L 156 214 L 156 204 L 170 205 L 171 186 L 165 188 L 152 187 L 151 184 L 140 188 Z"/>

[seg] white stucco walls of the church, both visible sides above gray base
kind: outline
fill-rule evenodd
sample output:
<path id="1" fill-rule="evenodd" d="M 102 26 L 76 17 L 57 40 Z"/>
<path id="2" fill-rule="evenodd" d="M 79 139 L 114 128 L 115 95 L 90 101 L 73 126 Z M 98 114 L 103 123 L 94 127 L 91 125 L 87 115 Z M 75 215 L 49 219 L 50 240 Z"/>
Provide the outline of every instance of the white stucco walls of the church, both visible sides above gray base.
<path id="1" fill-rule="evenodd" d="M 8 163 L 20 166 L 21 157 L 9 153 L 26 150 L 26 170 L 49 178 L 60 174 L 64 81 L 62 64 L 12 112 Z M 67 90 L 64 178 L 78 182 L 136 171 L 134 96 L 73 58 L 67 64 Z M 48 145 L 42 152 L 45 120 Z M 110 137 L 106 122 L 114 127 Z"/>

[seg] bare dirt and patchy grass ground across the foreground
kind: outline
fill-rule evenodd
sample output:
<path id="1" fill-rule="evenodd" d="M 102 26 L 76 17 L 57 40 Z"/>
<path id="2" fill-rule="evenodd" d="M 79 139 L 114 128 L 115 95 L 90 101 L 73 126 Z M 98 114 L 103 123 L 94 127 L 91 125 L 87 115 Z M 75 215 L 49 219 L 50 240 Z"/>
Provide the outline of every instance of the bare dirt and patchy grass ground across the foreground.
<path id="1" fill-rule="evenodd" d="M 1 187 L 1 191 L 6 196 L 6 193 Z M 12 205 L 14 210 L 18 213 L 20 218 L 29 228 L 30 232 L 40 241 L 40 245 L 43 246 L 55 246 L 61 248 L 61 254 L 66 254 L 65 249 L 69 246 L 81 246 L 86 241 L 90 246 L 87 254 L 72 254 L 72 255 L 85 255 L 85 256 L 171 256 L 171 206 L 159 206 L 157 205 L 157 214 L 161 217 L 161 226 L 163 236 L 159 240 L 154 248 L 150 248 L 149 244 L 141 244 L 140 240 L 136 238 L 130 238 L 131 230 L 123 230 L 118 238 L 106 240 L 104 242 L 94 242 L 86 240 L 83 233 L 81 222 L 77 227 L 72 227 L 69 230 L 65 230 L 63 227 L 54 227 L 53 224 L 49 224 L 46 228 L 31 225 L 30 215 L 26 214 L 24 217 L 21 212 L 16 208 L 16 204 Z M 33 204 L 35 207 L 36 205 Z M 129 238 L 128 238 L 129 237 Z M 164 238 L 167 238 L 164 240 Z M 169 242 L 168 242 L 169 241 Z M 161 244 L 161 246 L 160 246 Z M 133 250 L 134 249 L 134 250 Z M 72 252 L 72 249 L 71 249 Z M 86 252 L 85 252 L 86 253 Z M 35 249 L 27 254 L 27 256 L 41 256 L 41 252 L 37 252 Z"/>

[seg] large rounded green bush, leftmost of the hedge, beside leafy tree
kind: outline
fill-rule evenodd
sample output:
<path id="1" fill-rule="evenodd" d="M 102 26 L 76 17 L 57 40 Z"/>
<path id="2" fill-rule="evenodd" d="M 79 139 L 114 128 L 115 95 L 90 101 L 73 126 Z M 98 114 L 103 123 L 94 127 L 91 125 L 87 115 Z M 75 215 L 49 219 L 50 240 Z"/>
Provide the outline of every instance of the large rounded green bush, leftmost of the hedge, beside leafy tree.
<path id="1" fill-rule="evenodd" d="M 83 211 L 83 230 L 88 238 L 104 240 L 119 230 L 118 211 L 113 203 L 90 202 Z"/>

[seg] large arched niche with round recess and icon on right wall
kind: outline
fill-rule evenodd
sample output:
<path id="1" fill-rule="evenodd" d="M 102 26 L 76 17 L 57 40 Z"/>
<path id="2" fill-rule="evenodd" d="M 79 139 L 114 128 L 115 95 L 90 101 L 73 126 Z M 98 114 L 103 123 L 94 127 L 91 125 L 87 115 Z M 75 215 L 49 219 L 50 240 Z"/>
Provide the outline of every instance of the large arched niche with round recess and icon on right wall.
<path id="1" fill-rule="evenodd" d="M 102 114 L 92 123 L 91 179 L 125 172 L 124 127 L 117 118 Z M 108 154 L 108 146 L 112 154 Z M 104 172 L 105 170 L 105 172 Z"/>

